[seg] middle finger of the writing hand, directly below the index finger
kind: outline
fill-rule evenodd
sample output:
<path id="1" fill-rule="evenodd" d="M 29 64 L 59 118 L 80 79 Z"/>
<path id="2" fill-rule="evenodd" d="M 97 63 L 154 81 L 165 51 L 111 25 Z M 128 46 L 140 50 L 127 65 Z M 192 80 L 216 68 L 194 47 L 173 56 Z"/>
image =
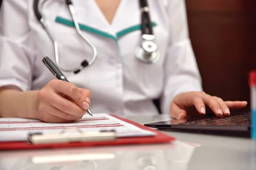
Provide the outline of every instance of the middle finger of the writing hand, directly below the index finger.
<path id="1" fill-rule="evenodd" d="M 80 108 L 75 103 L 71 102 L 70 100 L 67 100 L 58 94 L 54 92 L 50 92 L 47 94 L 47 102 L 49 102 L 50 105 L 52 105 L 55 108 L 58 108 L 59 110 L 74 115 L 74 116 L 83 116 L 86 111 L 84 109 Z"/>

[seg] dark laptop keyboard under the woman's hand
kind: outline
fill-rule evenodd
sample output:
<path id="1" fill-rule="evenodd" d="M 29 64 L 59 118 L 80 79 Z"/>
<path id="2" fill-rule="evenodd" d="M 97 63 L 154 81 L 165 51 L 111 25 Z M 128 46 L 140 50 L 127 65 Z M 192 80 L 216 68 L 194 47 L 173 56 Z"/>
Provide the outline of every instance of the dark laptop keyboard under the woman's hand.
<path id="1" fill-rule="evenodd" d="M 182 125 L 250 125 L 250 119 L 251 114 L 248 112 L 236 116 L 212 117 L 189 121 L 182 123 Z"/>

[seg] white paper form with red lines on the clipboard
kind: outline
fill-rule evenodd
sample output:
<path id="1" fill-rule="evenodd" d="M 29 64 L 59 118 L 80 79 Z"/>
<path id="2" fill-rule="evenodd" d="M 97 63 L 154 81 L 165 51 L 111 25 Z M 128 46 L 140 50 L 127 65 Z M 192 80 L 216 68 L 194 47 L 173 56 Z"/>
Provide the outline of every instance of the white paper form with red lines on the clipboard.
<path id="1" fill-rule="evenodd" d="M 71 129 L 79 128 L 83 132 L 116 130 L 117 137 L 154 136 L 155 133 L 140 129 L 108 114 L 86 114 L 73 123 L 44 123 L 35 119 L 0 118 L 0 141 L 27 141 L 29 133 L 77 133 Z"/>

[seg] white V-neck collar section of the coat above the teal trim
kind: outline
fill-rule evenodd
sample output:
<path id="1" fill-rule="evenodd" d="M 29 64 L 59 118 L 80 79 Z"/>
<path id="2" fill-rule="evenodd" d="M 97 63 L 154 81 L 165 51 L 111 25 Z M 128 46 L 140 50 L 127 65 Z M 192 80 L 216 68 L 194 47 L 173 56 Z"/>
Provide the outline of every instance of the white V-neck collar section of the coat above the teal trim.
<path id="1" fill-rule="evenodd" d="M 116 34 L 129 27 L 140 25 L 140 8 L 138 0 L 121 0 L 116 10 L 112 23 L 108 23 L 104 14 L 94 0 L 73 1 L 79 24 L 109 34 L 112 39 L 117 40 Z M 134 9 L 130 11 L 129 9 Z M 66 3 L 63 3 L 56 18 L 73 21 Z"/>

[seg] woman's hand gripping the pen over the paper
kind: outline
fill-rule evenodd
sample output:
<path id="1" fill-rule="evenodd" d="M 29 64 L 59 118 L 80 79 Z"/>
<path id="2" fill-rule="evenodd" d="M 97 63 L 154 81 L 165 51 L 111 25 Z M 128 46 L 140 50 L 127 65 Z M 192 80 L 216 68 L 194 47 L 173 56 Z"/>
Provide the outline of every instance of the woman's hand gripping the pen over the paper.
<path id="1" fill-rule="evenodd" d="M 39 92 L 36 114 L 43 122 L 73 122 L 81 119 L 89 108 L 90 90 L 70 82 L 53 79 Z"/>

